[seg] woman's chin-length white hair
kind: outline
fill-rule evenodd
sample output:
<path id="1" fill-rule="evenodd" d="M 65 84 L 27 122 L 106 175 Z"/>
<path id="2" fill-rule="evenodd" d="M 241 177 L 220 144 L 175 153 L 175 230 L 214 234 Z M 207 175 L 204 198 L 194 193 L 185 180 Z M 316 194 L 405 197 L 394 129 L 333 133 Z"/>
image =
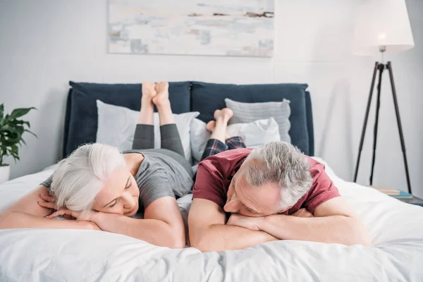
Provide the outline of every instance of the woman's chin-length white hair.
<path id="1" fill-rule="evenodd" d="M 97 143 L 78 147 L 59 162 L 53 174 L 51 191 L 58 209 L 89 212 L 106 178 L 123 166 L 125 159 L 116 147 Z"/>

